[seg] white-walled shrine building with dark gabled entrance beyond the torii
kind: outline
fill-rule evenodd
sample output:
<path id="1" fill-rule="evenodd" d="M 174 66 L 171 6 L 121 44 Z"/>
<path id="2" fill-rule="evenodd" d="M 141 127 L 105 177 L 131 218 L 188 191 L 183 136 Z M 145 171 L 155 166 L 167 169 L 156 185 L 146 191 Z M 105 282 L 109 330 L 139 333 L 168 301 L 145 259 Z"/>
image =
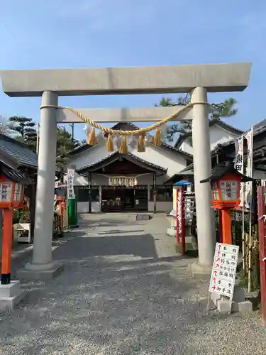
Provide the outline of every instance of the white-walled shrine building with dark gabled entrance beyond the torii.
<path id="1" fill-rule="evenodd" d="M 135 130 L 134 124 L 118 123 L 113 129 Z M 173 205 L 172 176 L 193 161 L 190 153 L 166 143 L 148 143 L 138 152 L 128 140 L 128 153 L 106 152 L 106 140 L 84 144 L 70 154 L 74 168 L 77 212 L 169 212 Z M 91 191 L 91 194 L 89 194 Z"/>

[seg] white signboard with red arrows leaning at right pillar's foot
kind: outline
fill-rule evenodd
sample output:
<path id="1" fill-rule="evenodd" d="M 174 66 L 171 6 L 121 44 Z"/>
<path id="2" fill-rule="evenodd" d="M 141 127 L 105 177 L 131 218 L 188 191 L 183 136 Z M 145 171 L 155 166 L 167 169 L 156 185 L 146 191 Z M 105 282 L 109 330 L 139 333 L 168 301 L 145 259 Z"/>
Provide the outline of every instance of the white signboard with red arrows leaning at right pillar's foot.
<path id="1" fill-rule="evenodd" d="M 239 246 L 217 243 L 209 292 L 233 297 Z"/>

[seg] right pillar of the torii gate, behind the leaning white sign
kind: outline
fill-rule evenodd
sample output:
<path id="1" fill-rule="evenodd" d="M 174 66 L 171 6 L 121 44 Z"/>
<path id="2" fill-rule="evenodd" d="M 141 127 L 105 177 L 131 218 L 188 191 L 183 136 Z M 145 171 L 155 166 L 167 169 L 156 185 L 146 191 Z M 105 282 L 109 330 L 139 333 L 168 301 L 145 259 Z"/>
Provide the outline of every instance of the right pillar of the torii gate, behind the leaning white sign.
<path id="1" fill-rule="evenodd" d="M 204 87 L 192 90 L 192 102 L 208 102 Z M 214 211 L 211 209 L 211 185 L 208 182 L 200 183 L 211 175 L 209 108 L 206 104 L 196 104 L 193 107 L 192 139 L 199 264 L 211 266 L 214 262 L 216 244 Z"/>

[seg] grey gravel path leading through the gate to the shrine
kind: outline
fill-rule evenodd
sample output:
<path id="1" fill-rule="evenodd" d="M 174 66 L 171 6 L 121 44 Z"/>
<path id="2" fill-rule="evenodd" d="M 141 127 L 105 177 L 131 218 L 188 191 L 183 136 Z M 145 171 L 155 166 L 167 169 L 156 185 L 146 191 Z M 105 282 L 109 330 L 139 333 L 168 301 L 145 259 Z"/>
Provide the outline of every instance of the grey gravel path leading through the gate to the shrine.
<path id="1" fill-rule="evenodd" d="M 0 354 L 265 353 L 257 312 L 206 312 L 208 283 L 187 275 L 192 260 L 175 253 L 163 215 L 81 217 L 79 229 L 55 242 L 65 271 L 23 283 L 25 300 L 0 313 Z"/>

